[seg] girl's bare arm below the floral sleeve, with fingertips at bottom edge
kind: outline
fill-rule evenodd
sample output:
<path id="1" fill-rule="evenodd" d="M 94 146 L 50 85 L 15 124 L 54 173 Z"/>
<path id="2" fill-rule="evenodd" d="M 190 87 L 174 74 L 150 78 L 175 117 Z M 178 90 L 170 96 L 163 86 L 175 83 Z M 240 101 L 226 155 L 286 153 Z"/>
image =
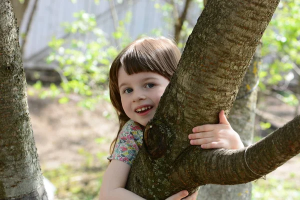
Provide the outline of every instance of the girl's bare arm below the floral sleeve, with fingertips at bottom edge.
<path id="1" fill-rule="evenodd" d="M 127 177 L 129 174 L 130 165 L 113 159 L 108 165 L 102 179 L 102 185 L 100 188 L 100 200 L 113 200 L 113 199 L 144 199 L 135 193 L 125 189 Z M 168 197 L 166 200 L 196 200 L 197 192 L 192 195 L 183 198 L 188 195 L 186 190 L 179 191 L 178 193 Z"/>

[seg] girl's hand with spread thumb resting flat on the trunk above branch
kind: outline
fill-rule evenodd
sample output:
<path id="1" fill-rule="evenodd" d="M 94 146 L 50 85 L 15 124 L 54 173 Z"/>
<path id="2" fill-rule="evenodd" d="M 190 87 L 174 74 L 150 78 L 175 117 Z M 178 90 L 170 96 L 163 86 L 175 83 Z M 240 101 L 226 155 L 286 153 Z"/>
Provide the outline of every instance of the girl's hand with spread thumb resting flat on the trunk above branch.
<path id="1" fill-rule="evenodd" d="M 238 149 L 244 145 L 239 135 L 235 132 L 224 114 L 224 110 L 219 113 L 218 124 L 205 124 L 196 126 L 188 135 L 191 145 L 201 145 L 201 148 L 227 148 Z"/>

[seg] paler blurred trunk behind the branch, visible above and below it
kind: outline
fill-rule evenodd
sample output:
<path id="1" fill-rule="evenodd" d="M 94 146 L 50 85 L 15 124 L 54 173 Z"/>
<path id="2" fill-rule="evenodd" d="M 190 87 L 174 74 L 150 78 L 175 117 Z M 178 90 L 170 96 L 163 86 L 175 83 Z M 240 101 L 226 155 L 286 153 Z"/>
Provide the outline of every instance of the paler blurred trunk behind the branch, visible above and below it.
<path id="1" fill-rule="evenodd" d="M 250 145 L 253 140 L 257 99 L 256 87 L 258 85 L 260 62 L 261 44 L 256 48 L 253 59 L 238 90 L 228 119 L 232 128 L 239 133 L 245 146 Z M 236 185 L 207 184 L 200 186 L 197 198 L 201 200 L 250 200 L 251 191 L 251 182 Z"/>

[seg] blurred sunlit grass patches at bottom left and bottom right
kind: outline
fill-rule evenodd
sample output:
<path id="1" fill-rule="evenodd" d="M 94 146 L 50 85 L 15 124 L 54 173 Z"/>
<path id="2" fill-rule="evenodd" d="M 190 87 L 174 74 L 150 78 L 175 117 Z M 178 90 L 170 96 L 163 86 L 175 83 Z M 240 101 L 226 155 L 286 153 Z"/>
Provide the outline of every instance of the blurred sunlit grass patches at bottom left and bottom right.
<path id="1" fill-rule="evenodd" d="M 106 163 L 105 163 L 106 164 Z M 70 165 L 61 165 L 57 169 L 46 170 L 43 175 L 57 188 L 55 199 L 95 200 L 98 199 L 102 175 L 105 164 L 100 167 L 72 168 Z M 254 200 L 296 200 L 300 199 L 300 185 L 297 185 L 295 173 L 289 178 L 278 179 L 268 177 L 258 179 L 253 183 L 252 199 Z"/>

